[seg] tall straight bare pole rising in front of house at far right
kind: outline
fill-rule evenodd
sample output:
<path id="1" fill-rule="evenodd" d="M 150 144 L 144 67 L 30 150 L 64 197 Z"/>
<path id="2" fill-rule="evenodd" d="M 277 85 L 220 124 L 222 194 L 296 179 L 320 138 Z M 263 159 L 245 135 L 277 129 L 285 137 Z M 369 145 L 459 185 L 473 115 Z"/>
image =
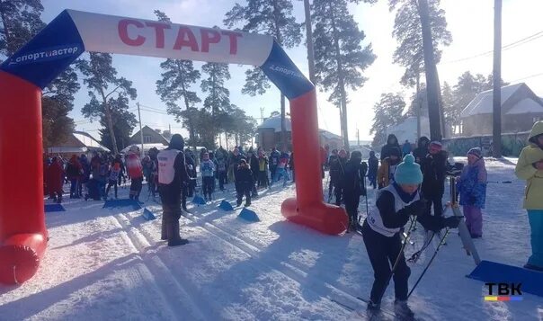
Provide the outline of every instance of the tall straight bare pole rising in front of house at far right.
<path id="1" fill-rule="evenodd" d="M 493 156 L 502 156 L 502 0 L 494 0 Z"/>

